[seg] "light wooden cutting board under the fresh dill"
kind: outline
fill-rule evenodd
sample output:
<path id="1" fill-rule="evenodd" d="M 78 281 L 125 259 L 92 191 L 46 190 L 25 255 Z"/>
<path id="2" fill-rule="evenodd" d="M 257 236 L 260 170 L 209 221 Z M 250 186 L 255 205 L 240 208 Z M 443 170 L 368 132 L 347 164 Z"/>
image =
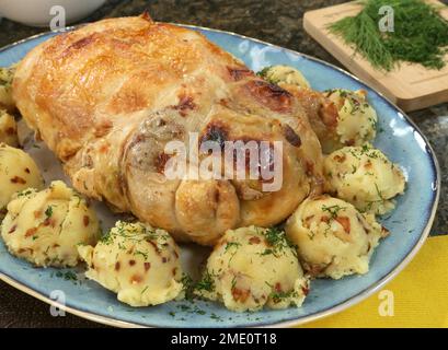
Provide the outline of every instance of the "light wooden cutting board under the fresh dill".
<path id="1" fill-rule="evenodd" d="M 430 1 L 443 5 L 441 2 Z M 330 34 L 328 25 L 345 16 L 358 13 L 361 5 L 347 2 L 330 8 L 306 12 L 303 27 L 330 54 L 349 71 L 383 93 L 402 109 L 410 112 L 448 102 L 448 66 L 441 70 L 428 70 L 420 65 L 402 63 L 391 72 L 375 70 L 370 63 L 343 39 Z M 448 7 L 440 14 L 448 19 Z M 446 56 L 448 59 L 448 55 Z"/>

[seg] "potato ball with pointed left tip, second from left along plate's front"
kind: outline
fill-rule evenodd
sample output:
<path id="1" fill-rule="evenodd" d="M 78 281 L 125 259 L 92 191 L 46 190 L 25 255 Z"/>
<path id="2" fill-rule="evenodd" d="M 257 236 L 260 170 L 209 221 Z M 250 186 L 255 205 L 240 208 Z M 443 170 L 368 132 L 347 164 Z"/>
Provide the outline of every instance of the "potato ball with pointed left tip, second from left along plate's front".
<path id="1" fill-rule="evenodd" d="M 80 246 L 85 276 L 130 306 L 162 304 L 183 292 L 179 247 L 166 231 L 118 221 L 93 246 Z"/>

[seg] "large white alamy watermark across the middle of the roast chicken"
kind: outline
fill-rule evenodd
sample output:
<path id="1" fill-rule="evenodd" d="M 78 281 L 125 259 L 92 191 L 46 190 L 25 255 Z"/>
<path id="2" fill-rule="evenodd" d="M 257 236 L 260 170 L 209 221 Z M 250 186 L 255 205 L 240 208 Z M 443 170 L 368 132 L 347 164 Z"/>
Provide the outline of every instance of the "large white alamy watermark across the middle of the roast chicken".
<path id="1" fill-rule="evenodd" d="M 200 142 L 189 132 L 188 142 L 169 141 L 164 153 L 168 179 L 260 180 L 265 192 L 277 191 L 283 184 L 283 141 Z"/>

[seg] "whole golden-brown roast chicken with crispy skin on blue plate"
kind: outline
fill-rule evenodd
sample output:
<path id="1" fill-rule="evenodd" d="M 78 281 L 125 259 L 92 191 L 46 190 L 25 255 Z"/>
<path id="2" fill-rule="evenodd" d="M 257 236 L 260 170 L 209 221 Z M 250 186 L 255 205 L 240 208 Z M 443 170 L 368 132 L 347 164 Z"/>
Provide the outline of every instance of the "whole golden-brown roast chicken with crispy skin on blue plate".
<path id="1" fill-rule="evenodd" d="M 177 241 L 268 226 L 322 187 L 322 153 L 299 101 L 191 30 L 149 16 L 58 35 L 22 60 L 13 98 L 76 189 Z M 283 141 L 283 186 L 262 179 L 169 179 L 171 140 Z"/>

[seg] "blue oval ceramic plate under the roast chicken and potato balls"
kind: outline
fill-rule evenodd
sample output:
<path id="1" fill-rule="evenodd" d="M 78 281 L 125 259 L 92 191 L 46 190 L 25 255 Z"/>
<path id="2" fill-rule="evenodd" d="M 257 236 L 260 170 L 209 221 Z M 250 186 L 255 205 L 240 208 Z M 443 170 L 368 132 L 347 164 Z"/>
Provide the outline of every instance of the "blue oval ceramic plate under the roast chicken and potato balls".
<path id="1" fill-rule="evenodd" d="M 340 312 L 378 291 L 397 276 L 413 258 L 428 235 L 439 195 L 440 176 L 437 160 L 430 145 L 417 127 L 393 104 L 347 72 L 312 57 L 284 49 L 256 39 L 215 30 L 192 27 L 211 42 L 242 59 L 257 71 L 271 65 L 289 65 L 298 68 L 315 90 L 344 88 L 365 89 L 370 104 L 379 116 L 379 132 L 375 144 L 393 162 L 400 164 L 407 177 L 407 188 L 400 196 L 397 210 L 381 222 L 391 231 L 371 258 L 370 271 L 338 281 L 314 280 L 302 307 L 257 313 L 232 313 L 220 304 L 197 301 L 170 302 L 160 306 L 133 308 L 116 300 L 115 294 L 82 277 L 77 279 L 67 270 L 36 269 L 8 254 L 0 243 L 0 278 L 18 289 L 45 302 L 50 302 L 54 291 L 65 293 L 68 312 L 114 326 L 152 327 L 251 327 L 288 326 L 313 320 Z M 0 51 L 0 66 L 20 60 L 30 49 L 57 33 L 43 34 L 10 45 Z M 44 145 L 26 145 L 45 172 L 46 180 L 61 177 L 60 165 Z M 99 206 L 104 224 L 114 218 Z M 186 265 L 204 252 L 184 247 L 182 258 Z M 59 272 L 58 272 L 59 271 Z"/>

